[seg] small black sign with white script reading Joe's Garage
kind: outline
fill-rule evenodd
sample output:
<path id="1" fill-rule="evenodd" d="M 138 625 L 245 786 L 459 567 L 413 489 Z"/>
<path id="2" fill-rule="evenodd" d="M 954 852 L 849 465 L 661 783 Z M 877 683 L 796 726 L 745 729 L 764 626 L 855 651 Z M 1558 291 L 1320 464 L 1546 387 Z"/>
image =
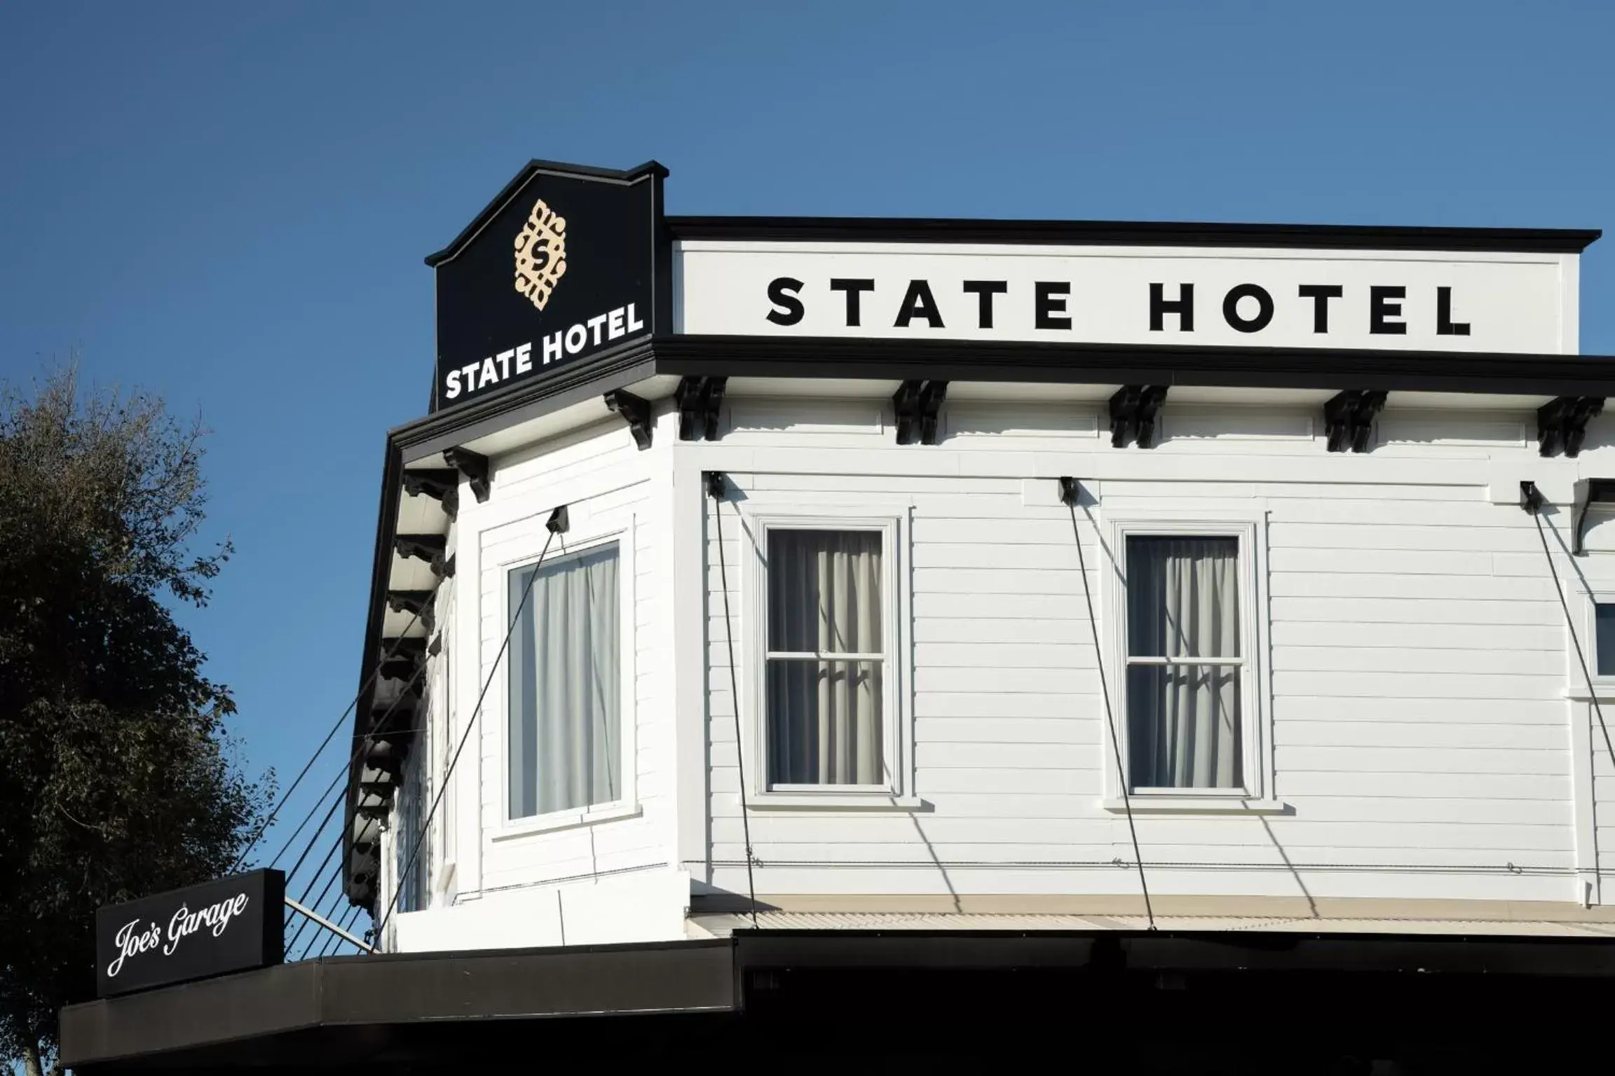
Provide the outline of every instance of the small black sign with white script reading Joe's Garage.
<path id="1" fill-rule="evenodd" d="M 250 871 L 95 911 L 95 994 L 278 965 L 286 874 Z"/>

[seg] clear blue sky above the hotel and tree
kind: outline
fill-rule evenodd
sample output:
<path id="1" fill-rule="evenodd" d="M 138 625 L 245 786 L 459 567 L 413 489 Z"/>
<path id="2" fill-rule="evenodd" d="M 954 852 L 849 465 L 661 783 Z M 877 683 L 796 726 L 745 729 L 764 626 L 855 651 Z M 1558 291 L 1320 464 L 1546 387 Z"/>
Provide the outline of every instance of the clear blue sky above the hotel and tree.
<path id="1" fill-rule="evenodd" d="M 656 158 L 672 213 L 1615 231 L 1612 40 L 1592 0 L 13 0 L 0 377 L 78 352 L 212 426 L 237 552 L 187 623 L 289 778 L 357 687 L 422 258 L 528 158 Z M 1615 353 L 1615 234 L 1581 287 Z"/>

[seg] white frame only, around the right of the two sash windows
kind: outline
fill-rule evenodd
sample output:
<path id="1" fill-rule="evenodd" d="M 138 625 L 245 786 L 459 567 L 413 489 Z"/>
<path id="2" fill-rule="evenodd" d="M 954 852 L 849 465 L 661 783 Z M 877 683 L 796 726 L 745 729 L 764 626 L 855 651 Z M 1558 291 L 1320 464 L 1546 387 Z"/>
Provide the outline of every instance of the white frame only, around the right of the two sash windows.
<path id="1" fill-rule="evenodd" d="M 1237 789 L 1139 789 L 1127 787 L 1127 773 L 1116 765 L 1116 750 L 1105 731 L 1105 797 L 1110 811 L 1182 813 L 1282 813 L 1273 790 L 1273 678 L 1269 669 L 1268 513 L 1255 510 L 1103 511 L 1098 557 L 1101 653 L 1116 721 L 1122 766 L 1127 763 L 1127 590 L 1129 536 L 1234 537 L 1239 539 L 1239 637 L 1240 637 L 1240 774 Z"/>

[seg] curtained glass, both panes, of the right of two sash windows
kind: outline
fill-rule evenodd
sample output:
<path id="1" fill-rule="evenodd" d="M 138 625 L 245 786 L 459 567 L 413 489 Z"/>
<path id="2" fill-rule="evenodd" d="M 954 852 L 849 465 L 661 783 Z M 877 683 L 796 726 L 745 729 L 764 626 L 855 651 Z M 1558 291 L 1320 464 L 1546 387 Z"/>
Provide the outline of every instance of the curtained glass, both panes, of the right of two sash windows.
<path id="1" fill-rule="evenodd" d="M 1239 539 L 1127 537 L 1127 657 L 1132 787 L 1239 787 Z"/>

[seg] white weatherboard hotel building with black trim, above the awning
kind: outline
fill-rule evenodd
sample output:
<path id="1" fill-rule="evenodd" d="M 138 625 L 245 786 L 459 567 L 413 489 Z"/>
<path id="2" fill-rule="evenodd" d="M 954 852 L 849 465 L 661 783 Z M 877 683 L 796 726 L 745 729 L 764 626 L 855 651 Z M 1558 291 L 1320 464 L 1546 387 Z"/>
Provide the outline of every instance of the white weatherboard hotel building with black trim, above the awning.
<path id="1" fill-rule="evenodd" d="M 384 949 L 1615 926 L 1597 232 L 662 176 L 535 163 L 431 260 L 349 808 Z"/>

